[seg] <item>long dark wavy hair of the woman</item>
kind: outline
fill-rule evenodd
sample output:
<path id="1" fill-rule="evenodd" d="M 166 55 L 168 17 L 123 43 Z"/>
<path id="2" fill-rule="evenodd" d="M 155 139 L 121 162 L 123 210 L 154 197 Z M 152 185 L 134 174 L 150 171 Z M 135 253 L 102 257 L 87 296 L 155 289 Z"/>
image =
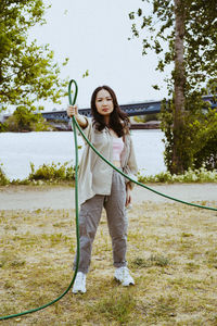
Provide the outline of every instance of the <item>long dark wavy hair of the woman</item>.
<path id="1" fill-rule="evenodd" d="M 102 89 L 105 89 L 110 92 L 114 105 L 114 110 L 110 115 L 108 126 L 104 122 L 104 116 L 98 112 L 95 106 L 97 95 Z M 104 85 L 95 88 L 91 97 L 90 105 L 91 105 L 91 111 L 93 116 L 93 123 L 95 125 L 97 130 L 102 131 L 105 127 L 110 127 L 117 134 L 118 137 L 122 137 L 125 134 L 129 133 L 129 118 L 127 114 L 119 109 L 119 105 L 117 103 L 117 97 L 111 87 Z"/>

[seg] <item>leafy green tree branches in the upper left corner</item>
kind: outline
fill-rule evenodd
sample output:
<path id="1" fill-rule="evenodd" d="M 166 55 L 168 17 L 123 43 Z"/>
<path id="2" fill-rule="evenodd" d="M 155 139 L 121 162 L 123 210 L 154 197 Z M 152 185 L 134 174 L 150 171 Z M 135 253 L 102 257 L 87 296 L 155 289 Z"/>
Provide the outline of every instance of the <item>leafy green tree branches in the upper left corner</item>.
<path id="1" fill-rule="evenodd" d="M 0 1 L 0 110 L 40 99 L 59 102 L 64 95 L 67 80 L 60 79 L 49 46 L 28 42 L 28 30 L 46 23 L 44 11 L 43 0 Z"/>

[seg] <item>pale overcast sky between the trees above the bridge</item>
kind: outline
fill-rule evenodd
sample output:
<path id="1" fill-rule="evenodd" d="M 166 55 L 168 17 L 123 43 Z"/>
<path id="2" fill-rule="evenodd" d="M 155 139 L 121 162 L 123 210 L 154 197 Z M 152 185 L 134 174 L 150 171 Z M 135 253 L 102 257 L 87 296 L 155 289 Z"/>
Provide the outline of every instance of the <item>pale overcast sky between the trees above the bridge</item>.
<path id="1" fill-rule="evenodd" d="M 101 85 L 115 90 L 119 104 L 161 100 L 167 96 L 165 74 L 155 71 L 155 53 L 142 55 L 142 38 L 128 40 L 132 37 L 129 13 L 139 8 L 148 13 L 145 2 L 52 0 L 48 3 L 52 7 L 44 16 L 47 24 L 34 27 L 29 37 L 37 39 L 38 45 L 50 43 L 56 62 L 69 58 L 61 77 L 77 80 L 79 108 L 90 106 L 92 91 Z M 82 78 L 87 70 L 89 76 Z M 152 88 L 155 84 L 162 86 L 161 91 Z M 46 111 L 66 105 L 67 98 L 61 105 L 46 103 Z"/>

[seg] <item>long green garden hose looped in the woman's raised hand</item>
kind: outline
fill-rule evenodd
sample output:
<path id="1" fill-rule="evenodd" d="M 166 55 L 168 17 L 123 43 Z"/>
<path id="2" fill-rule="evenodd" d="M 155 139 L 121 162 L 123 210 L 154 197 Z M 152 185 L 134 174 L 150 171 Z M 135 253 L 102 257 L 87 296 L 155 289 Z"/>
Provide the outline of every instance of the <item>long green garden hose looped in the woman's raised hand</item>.
<path id="1" fill-rule="evenodd" d="M 75 95 L 74 95 L 74 99 L 72 100 L 72 93 L 71 93 L 71 88 L 72 88 L 72 84 L 75 84 Z M 78 92 L 78 87 L 77 87 L 77 84 L 74 79 L 72 79 L 68 84 L 68 100 L 69 100 L 69 104 L 71 105 L 74 105 L 75 102 L 76 102 L 76 99 L 77 99 L 77 92 Z M 114 170 L 116 170 L 118 173 L 120 173 L 124 177 L 126 177 L 127 179 L 129 179 L 130 181 L 137 184 L 138 186 L 140 187 L 143 187 L 156 195 L 159 195 L 162 197 L 165 197 L 167 199 L 170 199 L 170 200 L 174 200 L 174 201 L 177 201 L 177 202 L 180 202 L 180 203 L 183 203 L 183 204 L 187 204 L 187 205 L 191 205 L 191 206 L 195 206 L 195 208 L 200 208 L 200 209 L 206 209 L 206 210 L 212 210 L 212 211 L 217 211 L 216 208 L 210 208 L 210 206 L 205 206 L 205 205 L 199 205 L 199 204 L 195 204 L 195 203 L 191 203 L 191 202 L 187 202 L 187 201 L 183 201 L 183 200 L 180 200 L 180 199 L 177 199 L 177 198 L 174 198 L 174 197 L 170 197 L 170 196 L 167 196 L 165 193 L 162 193 L 159 191 L 156 191 L 148 186 L 145 186 L 144 184 L 141 184 L 132 178 L 130 178 L 128 175 L 126 175 L 123 171 L 118 170 L 116 166 L 114 166 L 110 161 L 107 161 L 94 147 L 93 145 L 88 140 L 88 138 L 85 136 L 85 134 L 82 133 L 80 126 L 78 125 L 77 121 L 75 120 L 75 117 L 73 116 L 73 121 L 72 121 L 72 124 L 73 124 L 73 130 L 74 130 L 74 142 L 75 142 L 75 156 L 76 156 L 76 162 L 75 162 L 75 204 L 76 204 L 76 237 L 77 237 L 77 259 L 76 259 L 76 267 L 75 267 L 75 272 L 74 272 L 74 276 L 73 276 L 73 279 L 68 286 L 68 288 L 60 296 L 58 297 L 56 299 L 54 299 L 53 301 L 44 304 L 44 305 L 41 305 L 39 308 L 36 308 L 36 309 L 31 309 L 31 310 L 28 310 L 28 311 L 25 311 L 25 312 L 22 312 L 22 313 L 17 313 L 17 314 L 12 314 L 12 315 L 8 315 L 8 316 L 1 316 L 0 317 L 0 321 L 3 321 L 3 319 L 9 319 L 9 318 L 13 318 L 13 317 L 18 317 L 18 316 L 22 316 L 22 315 L 26 315 L 26 314 L 29 314 L 29 313 L 34 313 L 34 312 L 37 312 L 39 310 L 42 310 L 55 302 L 58 302 L 59 300 L 61 300 L 68 291 L 69 289 L 72 288 L 74 281 L 75 281 L 75 278 L 76 278 L 76 275 L 77 275 L 77 271 L 78 271 L 78 264 L 79 264 L 79 255 L 80 255 L 80 246 L 79 246 L 79 227 L 78 227 L 78 146 L 77 146 L 77 133 L 76 133 L 76 128 L 78 128 L 79 133 L 81 134 L 81 136 L 84 137 L 84 139 L 87 141 L 87 143 L 91 147 L 91 149 L 104 161 L 106 162 L 111 167 L 113 167 Z"/>

